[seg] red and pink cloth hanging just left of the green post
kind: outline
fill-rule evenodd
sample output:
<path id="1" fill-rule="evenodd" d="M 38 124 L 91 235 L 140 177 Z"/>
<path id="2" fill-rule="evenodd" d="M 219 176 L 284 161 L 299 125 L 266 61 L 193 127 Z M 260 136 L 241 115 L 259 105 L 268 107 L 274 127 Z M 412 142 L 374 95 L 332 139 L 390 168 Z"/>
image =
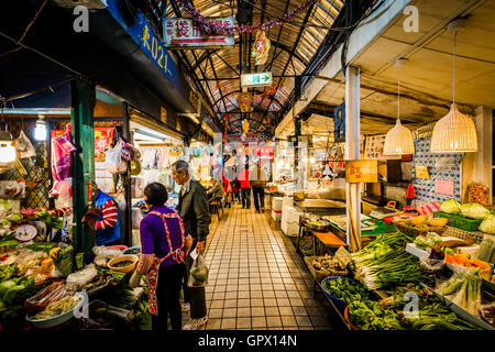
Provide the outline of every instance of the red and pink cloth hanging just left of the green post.
<path id="1" fill-rule="evenodd" d="M 70 142 L 70 124 L 61 136 L 52 139 L 52 176 L 54 179 L 51 196 L 61 194 L 62 182 L 72 177 L 72 153 L 76 147 Z"/>

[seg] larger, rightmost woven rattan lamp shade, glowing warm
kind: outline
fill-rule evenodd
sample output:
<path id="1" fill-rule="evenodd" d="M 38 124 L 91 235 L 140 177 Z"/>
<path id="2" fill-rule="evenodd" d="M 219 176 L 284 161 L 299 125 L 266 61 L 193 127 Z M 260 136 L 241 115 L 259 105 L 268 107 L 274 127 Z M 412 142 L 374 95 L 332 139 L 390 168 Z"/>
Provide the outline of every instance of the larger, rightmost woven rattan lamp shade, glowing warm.
<path id="1" fill-rule="evenodd" d="M 452 103 L 450 111 L 433 128 L 430 152 L 476 152 L 477 135 L 473 120 Z"/>

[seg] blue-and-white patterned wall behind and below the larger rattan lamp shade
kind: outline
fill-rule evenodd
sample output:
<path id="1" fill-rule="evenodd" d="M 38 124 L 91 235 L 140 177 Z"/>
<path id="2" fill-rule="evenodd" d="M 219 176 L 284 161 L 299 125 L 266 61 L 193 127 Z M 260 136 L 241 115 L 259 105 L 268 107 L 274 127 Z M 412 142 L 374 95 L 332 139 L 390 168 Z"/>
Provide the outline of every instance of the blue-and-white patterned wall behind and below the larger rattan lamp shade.
<path id="1" fill-rule="evenodd" d="M 452 180 L 454 184 L 453 198 L 461 201 L 461 162 L 464 154 L 430 153 L 430 138 L 415 140 L 416 154 L 413 156 L 413 175 L 415 178 L 413 186 L 416 188 L 416 198 L 413 204 L 419 206 L 435 200 L 443 201 L 452 198 L 452 196 L 435 193 L 435 182 L 437 179 Z M 428 167 L 430 179 L 416 178 L 416 166 L 418 165 Z"/>

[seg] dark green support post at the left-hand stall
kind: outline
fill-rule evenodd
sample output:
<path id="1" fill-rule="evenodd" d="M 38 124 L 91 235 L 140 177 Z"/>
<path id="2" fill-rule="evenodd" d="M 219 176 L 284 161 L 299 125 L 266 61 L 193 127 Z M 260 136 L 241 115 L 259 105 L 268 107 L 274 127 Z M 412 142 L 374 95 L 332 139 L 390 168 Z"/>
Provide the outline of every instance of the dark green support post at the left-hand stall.
<path id="1" fill-rule="evenodd" d="M 77 148 L 73 154 L 73 241 L 86 261 L 96 242 L 95 233 L 82 223 L 86 209 L 95 201 L 89 191 L 95 180 L 95 87 L 76 79 L 70 82 L 70 95 L 72 139 Z"/>

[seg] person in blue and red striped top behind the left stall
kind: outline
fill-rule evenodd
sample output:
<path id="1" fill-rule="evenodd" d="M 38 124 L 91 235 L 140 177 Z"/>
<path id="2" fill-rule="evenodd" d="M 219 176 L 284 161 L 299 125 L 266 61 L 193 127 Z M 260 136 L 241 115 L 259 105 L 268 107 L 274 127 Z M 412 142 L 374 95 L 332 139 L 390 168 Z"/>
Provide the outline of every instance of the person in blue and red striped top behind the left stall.
<path id="1" fill-rule="evenodd" d="M 98 185 L 91 183 L 95 208 L 90 208 L 82 219 L 91 230 L 95 230 L 97 245 L 120 244 L 121 221 L 119 207 L 116 200 L 99 189 Z M 96 221 L 95 217 L 98 216 Z"/>

